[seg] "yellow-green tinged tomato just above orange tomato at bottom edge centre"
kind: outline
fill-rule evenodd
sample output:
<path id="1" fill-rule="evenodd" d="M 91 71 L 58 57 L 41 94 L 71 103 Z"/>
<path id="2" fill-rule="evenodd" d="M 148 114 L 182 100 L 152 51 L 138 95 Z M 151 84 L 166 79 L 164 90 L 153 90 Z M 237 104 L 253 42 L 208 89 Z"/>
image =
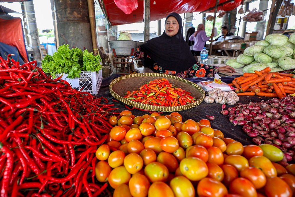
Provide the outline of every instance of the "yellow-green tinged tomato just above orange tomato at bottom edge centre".
<path id="1" fill-rule="evenodd" d="M 168 179 L 169 171 L 164 164 L 160 162 L 151 162 L 145 166 L 145 176 L 147 176 L 152 183 L 156 181 L 165 182 Z"/>

